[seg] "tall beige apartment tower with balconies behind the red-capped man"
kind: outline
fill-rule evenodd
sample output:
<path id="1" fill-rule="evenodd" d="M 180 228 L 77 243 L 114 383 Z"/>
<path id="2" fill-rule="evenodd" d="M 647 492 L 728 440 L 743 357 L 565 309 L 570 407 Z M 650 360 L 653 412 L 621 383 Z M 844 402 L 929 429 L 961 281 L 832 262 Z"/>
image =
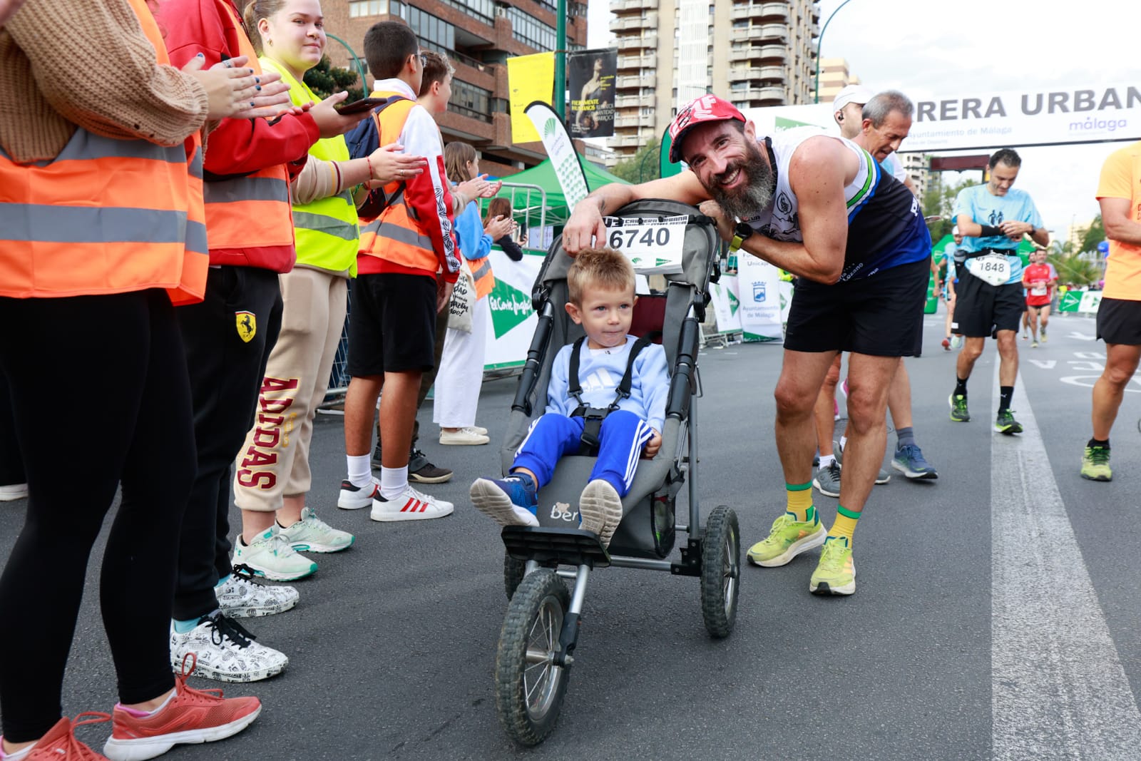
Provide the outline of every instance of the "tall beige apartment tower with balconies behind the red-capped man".
<path id="1" fill-rule="evenodd" d="M 811 103 L 812 0 L 610 0 L 618 48 L 614 137 L 630 156 L 679 104 L 715 92 L 742 108 Z"/>

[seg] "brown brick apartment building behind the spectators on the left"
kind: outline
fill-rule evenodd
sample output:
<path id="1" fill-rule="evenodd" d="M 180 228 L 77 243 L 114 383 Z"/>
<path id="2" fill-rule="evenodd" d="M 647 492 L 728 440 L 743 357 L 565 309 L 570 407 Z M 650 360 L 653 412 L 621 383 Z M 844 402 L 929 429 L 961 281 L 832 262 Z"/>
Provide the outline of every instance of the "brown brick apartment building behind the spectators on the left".
<path id="1" fill-rule="evenodd" d="M 586 3 L 567 0 L 567 47 L 586 43 Z M 364 33 L 402 18 L 424 49 L 455 64 L 452 102 L 438 119 L 444 141 L 464 140 L 480 154 L 480 169 L 511 175 L 547 157 L 540 143 L 515 144 L 508 113 L 507 59 L 556 49 L 556 0 L 324 0 L 325 30 L 364 56 Z M 351 68 L 348 50 L 333 39 L 333 65 Z M 369 78 L 372 83 L 372 78 Z"/>

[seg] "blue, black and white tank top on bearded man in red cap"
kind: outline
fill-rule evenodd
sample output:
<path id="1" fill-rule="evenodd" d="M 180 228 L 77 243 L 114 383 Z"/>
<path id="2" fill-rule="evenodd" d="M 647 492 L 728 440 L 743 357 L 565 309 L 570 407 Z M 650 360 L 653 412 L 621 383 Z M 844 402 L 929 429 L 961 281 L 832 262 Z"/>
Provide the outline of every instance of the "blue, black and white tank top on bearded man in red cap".
<path id="1" fill-rule="evenodd" d="M 776 241 L 803 241 L 800 204 L 788 185 L 788 164 L 800 144 L 818 135 L 826 133 L 816 127 L 800 127 L 764 139 L 776 173 L 772 203 L 745 220 L 762 235 Z M 851 140 L 832 139 L 840 140 L 859 160 L 856 177 L 844 187 L 848 244 L 840 281 L 871 277 L 880 270 L 930 257 L 931 235 L 919 201 L 907 186 L 885 173 L 869 153 Z"/>

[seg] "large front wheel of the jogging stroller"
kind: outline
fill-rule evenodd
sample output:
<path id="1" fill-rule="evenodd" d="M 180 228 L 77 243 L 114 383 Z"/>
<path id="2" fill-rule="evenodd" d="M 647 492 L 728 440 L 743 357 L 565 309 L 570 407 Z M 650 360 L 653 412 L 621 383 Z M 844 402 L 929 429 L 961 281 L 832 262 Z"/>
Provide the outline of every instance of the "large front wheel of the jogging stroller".
<path id="1" fill-rule="evenodd" d="M 570 673 L 555 656 L 569 602 L 555 572 L 540 569 L 519 583 L 508 605 L 495 654 L 495 707 L 520 745 L 542 743 L 558 721 Z"/>

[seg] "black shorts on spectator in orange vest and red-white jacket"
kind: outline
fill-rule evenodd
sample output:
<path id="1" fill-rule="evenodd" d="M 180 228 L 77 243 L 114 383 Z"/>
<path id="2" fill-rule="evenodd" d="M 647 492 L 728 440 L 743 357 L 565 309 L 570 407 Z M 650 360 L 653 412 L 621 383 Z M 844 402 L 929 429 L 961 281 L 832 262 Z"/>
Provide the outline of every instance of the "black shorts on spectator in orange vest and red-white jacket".
<path id="1" fill-rule="evenodd" d="M 426 372 L 436 340 L 436 278 L 385 273 L 353 281 L 348 374 Z"/>

